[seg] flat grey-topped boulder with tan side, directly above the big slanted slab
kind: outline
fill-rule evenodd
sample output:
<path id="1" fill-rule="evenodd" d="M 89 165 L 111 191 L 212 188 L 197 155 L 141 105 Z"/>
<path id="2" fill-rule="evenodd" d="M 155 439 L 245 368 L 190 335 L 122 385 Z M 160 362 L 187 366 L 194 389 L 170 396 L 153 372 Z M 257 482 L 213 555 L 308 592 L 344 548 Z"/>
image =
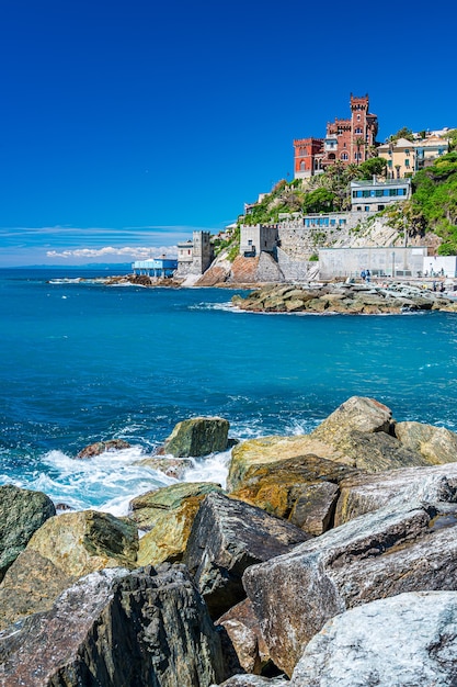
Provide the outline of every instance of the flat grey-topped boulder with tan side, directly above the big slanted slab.
<path id="1" fill-rule="evenodd" d="M 376 474 L 358 473 L 340 482 L 334 526 L 381 508 L 400 494 L 435 485 L 439 500 L 454 500 L 457 487 L 457 463 L 427 468 L 405 468 Z"/>

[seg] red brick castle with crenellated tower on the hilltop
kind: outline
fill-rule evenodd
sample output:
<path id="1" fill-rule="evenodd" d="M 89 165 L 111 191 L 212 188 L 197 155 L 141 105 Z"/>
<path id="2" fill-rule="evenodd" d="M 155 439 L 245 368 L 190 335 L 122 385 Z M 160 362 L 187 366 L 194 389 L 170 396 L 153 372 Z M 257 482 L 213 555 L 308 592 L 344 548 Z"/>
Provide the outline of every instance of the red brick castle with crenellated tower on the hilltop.
<path id="1" fill-rule="evenodd" d="M 294 140 L 294 177 L 312 177 L 338 160 L 343 165 L 364 162 L 373 155 L 377 132 L 378 117 L 369 112 L 368 95 L 351 93 L 351 119 L 329 122 L 325 138 Z"/>

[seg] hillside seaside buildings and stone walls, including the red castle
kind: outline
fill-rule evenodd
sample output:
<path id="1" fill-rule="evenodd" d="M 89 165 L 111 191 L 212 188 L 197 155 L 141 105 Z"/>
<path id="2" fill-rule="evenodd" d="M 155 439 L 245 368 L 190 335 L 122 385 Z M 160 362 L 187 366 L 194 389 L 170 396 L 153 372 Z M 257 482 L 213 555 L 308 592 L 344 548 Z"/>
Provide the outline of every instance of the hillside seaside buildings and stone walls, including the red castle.
<path id="1" fill-rule="evenodd" d="M 192 239 L 178 244 L 178 258 L 137 261 L 133 272 L 173 278 L 182 285 L 351 281 L 368 272 L 373 280 L 422 280 L 424 288 L 434 289 L 436 279 L 447 280 L 446 289 L 452 291 L 457 288 L 457 257 L 438 256 L 436 245 L 421 245 L 421 237 L 408 232 L 407 218 L 399 230 L 381 213 L 411 198 L 412 178 L 448 153 L 452 131 L 413 133 L 411 140 L 392 136 L 379 145 L 378 117 L 369 111 L 368 94 L 351 94 L 349 119 L 329 122 L 323 138 L 294 140 L 295 188 L 312 185 L 335 164 L 386 160 L 382 177 L 351 181 L 345 212 L 287 212 L 279 213 L 275 223 L 252 224 L 249 216 L 267 195 L 262 193 L 224 233 L 194 232 Z M 285 187 L 287 193 L 290 185 Z M 230 239 L 238 243 L 231 261 L 226 254 L 215 252 L 215 246 L 230 245 Z"/>

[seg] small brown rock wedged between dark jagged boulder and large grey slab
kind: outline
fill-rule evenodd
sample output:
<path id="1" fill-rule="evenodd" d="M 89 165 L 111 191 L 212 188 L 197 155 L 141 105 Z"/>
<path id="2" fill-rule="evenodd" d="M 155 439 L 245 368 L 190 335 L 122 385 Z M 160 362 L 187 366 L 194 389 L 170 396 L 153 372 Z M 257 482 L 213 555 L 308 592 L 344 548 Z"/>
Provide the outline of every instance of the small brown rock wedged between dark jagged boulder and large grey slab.
<path id="1" fill-rule="evenodd" d="M 243 671 L 260 675 L 271 664 L 269 647 L 249 599 L 230 608 L 215 624 L 221 626 L 227 632 Z"/>

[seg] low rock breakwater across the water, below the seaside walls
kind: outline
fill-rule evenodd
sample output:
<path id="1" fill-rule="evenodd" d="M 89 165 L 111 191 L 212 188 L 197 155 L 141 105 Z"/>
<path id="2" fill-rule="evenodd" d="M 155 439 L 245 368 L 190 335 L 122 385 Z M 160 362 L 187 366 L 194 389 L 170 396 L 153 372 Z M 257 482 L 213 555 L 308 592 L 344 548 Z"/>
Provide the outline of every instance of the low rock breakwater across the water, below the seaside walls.
<path id="1" fill-rule="evenodd" d="M 254 313 L 339 313 L 345 315 L 398 314 L 414 311 L 457 313 L 457 301 L 429 289 L 393 282 L 375 284 L 270 285 L 247 296 L 235 295 L 232 304 Z"/>

